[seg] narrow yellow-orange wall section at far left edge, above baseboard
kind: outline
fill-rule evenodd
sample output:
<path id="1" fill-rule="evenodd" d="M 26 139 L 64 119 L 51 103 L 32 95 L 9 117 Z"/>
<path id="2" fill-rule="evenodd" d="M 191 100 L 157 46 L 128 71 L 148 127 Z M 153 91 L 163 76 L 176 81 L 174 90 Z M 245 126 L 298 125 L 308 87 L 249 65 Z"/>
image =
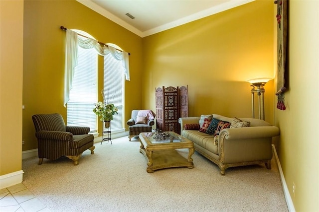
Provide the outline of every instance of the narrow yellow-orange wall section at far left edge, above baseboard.
<path id="1" fill-rule="evenodd" d="M 0 176 L 21 170 L 22 47 L 23 1 L 0 0 Z"/>

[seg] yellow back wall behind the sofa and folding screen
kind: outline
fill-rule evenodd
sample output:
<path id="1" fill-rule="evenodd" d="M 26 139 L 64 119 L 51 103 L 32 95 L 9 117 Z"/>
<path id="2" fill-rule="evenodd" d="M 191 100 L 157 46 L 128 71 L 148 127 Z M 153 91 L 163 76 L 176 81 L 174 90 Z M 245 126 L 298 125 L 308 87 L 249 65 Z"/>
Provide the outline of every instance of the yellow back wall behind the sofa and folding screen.
<path id="1" fill-rule="evenodd" d="M 143 106 L 155 110 L 156 87 L 188 85 L 189 116 L 252 117 L 246 80 L 274 77 L 273 7 L 254 1 L 144 38 Z M 265 89 L 273 123 L 273 80 Z"/>

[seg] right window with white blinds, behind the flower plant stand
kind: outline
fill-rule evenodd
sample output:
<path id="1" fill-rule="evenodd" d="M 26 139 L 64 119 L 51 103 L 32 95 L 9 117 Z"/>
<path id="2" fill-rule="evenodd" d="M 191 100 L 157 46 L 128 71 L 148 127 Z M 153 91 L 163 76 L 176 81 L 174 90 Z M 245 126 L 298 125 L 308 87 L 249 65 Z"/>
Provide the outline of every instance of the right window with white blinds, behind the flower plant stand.
<path id="1" fill-rule="evenodd" d="M 120 49 L 116 45 L 108 44 Z M 113 116 L 111 122 L 112 132 L 123 130 L 124 114 L 124 74 L 123 62 L 118 61 L 111 54 L 104 56 L 104 94 L 106 101 L 118 107 L 118 114 Z"/>

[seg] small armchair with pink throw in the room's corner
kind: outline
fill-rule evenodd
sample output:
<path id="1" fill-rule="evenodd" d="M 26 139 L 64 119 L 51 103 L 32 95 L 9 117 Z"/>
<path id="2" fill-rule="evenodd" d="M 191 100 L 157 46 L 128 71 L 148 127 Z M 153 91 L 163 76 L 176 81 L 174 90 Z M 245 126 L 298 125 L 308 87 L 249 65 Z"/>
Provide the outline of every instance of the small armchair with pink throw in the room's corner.
<path id="1" fill-rule="evenodd" d="M 152 110 L 132 110 L 131 119 L 127 121 L 129 125 L 129 141 L 140 133 L 152 132 L 155 124 L 155 113 Z"/>

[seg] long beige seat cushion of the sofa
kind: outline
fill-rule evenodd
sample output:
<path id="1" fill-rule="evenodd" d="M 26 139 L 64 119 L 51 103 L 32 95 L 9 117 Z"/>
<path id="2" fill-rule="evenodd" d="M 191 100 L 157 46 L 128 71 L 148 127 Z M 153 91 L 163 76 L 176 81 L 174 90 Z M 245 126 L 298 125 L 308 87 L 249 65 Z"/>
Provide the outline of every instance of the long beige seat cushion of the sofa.
<path id="1" fill-rule="evenodd" d="M 214 142 L 214 136 L 195 130 L 184 130 L 182 136 L 218 155 L 218 146 Z"/>

